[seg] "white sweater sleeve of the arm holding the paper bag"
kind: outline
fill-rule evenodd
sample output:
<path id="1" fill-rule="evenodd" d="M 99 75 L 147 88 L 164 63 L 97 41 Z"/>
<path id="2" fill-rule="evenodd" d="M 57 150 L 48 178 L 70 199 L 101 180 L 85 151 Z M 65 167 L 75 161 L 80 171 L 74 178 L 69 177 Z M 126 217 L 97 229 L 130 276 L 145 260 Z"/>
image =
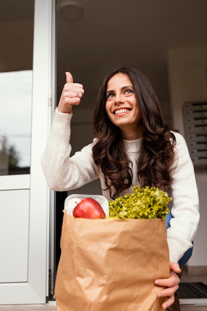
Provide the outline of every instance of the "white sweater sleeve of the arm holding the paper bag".
<path id="1" fill-rule="evenodd" d="M 170 261 L 177 262 L 192 247 L 192 240 L 199 224 L 199 196 L 194 166 L 185 139 L 178 133 L 176 137 L 175 162 L 172 166 L 172 198 L 167 240 Z"/>

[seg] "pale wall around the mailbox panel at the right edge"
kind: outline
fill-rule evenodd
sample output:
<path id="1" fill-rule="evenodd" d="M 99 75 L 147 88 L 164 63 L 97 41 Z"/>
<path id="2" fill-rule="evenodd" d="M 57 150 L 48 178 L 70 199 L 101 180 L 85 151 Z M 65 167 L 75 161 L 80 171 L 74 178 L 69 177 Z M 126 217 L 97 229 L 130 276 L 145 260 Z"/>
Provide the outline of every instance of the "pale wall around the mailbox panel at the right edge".
<path id="1" fill-rule="evenodd" d="M 173 126 L 185 137 L 182 106 L 186 101 L 207 101 L 207 47 L 168 51 Z M 207 266 L 207 167 L 195 169 L 201 221 L 188 266 Z"/>

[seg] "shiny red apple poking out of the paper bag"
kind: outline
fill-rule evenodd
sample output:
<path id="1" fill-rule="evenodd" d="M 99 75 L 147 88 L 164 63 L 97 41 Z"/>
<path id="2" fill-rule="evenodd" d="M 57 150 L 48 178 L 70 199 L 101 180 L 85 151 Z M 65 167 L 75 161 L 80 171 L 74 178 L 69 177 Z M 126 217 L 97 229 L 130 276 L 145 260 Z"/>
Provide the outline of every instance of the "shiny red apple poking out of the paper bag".
<path id="1" fill-rule="evenodd" d="M 78 203 L 72 215 L 76 218 L 106 218 L 101 205 L 92 198 L 84 198 Z"/>

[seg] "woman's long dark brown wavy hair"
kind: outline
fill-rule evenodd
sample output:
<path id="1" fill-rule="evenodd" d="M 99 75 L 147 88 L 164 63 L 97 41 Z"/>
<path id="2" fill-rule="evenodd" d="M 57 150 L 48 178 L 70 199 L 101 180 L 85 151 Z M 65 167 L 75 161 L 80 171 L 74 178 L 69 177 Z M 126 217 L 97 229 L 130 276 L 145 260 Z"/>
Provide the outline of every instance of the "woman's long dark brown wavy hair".
<path id="1" fill-rule="evenodd" d="M 111 198 L 115 199 L 132 185 L 133 178 L 121 131 L 111 122 L 105 107 L 107 83 L 118 73 L 127 75 L 132 81 L 141 116 L 143 139 L 137 162 L 139 186 L 170 191 L 175 136 L 163 124 L 160 105 L 149 79 L 130 67 L 117 69 L 104 78 L 94 110 L 94 133 L 98 140 L 92 152 L 95 163 L 104 174 L 104 190 L 109 190 Z"/>

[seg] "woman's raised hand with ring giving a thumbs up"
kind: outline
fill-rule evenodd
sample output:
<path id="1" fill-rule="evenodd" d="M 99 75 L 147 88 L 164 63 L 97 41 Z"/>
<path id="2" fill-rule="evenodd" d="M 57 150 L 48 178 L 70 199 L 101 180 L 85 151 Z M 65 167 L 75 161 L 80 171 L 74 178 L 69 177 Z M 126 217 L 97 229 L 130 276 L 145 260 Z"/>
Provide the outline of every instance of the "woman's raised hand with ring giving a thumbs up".
<path id="1" fill-rule="evenodd" d="M 66 72 L 66 84 L 64 85 L 58 104 L 58 111 L 71 113 L 72 106 L 79 105 L 83 94 L 83 85 L 80 83 L 73 83 L 72 75 L 69 72 Z"/>

